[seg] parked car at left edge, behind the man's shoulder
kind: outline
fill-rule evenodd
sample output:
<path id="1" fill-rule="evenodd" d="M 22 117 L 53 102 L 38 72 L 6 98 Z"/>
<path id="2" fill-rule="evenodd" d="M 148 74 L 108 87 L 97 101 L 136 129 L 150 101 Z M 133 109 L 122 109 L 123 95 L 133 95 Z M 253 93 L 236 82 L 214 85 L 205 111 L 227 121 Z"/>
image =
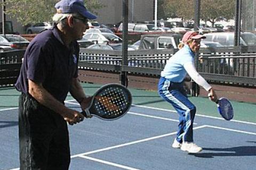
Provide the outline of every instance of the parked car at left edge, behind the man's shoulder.
<path id="1" fill-rule="evenodd" d="M 28 44 L 29 41 L 19 35 L 0 35 L 0 52 L 26 49 Z"/>

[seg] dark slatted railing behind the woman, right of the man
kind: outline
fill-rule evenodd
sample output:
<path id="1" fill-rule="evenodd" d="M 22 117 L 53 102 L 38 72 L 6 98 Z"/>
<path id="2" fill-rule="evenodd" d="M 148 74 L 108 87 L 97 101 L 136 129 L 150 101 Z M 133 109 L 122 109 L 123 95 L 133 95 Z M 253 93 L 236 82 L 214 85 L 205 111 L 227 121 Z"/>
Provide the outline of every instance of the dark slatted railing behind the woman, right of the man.
<path id="1" fill-rule="evenodd" d="M 219 84 L 256 86 L 256 51 L 254 47 L 206 48 L 196 60 L 198 72 L 206 79 Z M 159 76 L 166 61 L 177 50 L 129 51 L 128 65 L 123 71 L 130 74 Z M 122 53 L 81 49 L 81 69 L 121 71 Z"/>

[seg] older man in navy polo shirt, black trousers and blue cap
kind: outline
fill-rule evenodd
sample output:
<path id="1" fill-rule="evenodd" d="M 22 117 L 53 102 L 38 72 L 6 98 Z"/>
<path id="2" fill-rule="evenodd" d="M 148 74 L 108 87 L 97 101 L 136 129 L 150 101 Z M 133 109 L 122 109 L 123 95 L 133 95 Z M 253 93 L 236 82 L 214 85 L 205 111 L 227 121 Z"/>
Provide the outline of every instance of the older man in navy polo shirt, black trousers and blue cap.
<path id="1" fill-rule="evenodd" d="M 83 1 L 61 0 L 55 4 L 56 25 L 38 34 L 24 55 L 15 84 L 19 98 L 20 169 L 68 169 L 70 164 L 67 122 L 74 125 L 84 116 L 69 109 L 68 92 L 85 109 L 86 98 L 78 81 L 78 39 L 87 20 L 97 18 Z"/>

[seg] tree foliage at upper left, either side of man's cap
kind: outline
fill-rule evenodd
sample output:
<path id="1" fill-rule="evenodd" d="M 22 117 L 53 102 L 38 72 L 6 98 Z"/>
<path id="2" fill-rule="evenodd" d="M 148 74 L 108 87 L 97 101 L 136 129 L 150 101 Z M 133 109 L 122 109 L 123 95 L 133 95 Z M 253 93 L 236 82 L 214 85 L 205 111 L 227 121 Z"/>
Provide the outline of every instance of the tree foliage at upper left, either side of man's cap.
<path id="1" fill-rule="evenodd" d="M 51 21 L 56 12 L 54 5 L 59 0 L 6 0 L 5 13 L 17 19 L 23 26 L 29 23 Z M 84 0 L 87 9 L 100 9 L 103 5 L 99 0 Z"/>

